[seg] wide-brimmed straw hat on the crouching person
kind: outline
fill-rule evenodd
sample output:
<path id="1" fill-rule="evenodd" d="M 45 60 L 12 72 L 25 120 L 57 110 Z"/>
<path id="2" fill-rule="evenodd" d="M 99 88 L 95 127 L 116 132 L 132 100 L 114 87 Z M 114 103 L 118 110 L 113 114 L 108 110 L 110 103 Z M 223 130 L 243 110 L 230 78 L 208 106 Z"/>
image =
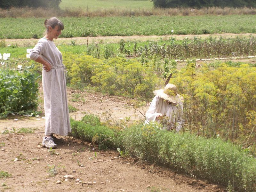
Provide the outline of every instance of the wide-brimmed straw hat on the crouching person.
<path id="1" fill-rule="evenodd" d="M 177 93 L 177 87 L 174 84 L 166 84 L 164 89 L 155 90 L 153 93 L 164 100 L 172 103 L 180 103 L 184 99 Z"/>

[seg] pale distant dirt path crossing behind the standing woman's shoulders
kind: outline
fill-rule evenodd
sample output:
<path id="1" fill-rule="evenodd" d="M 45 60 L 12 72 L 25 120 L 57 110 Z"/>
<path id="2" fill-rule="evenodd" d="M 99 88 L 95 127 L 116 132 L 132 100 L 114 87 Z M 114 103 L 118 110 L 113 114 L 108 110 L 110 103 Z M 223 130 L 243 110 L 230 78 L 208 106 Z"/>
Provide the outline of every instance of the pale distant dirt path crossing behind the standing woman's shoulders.
<path id="1" fill-rule="evenodd" d="M 72 37 L 72 38 L 59 38 L 54 39 L 54 43 L 56 45 L 59 44 L 71 44 L 71 41 L 75 41 L 76 44 L 87 44 L 94 42 L 101 43 L 117 43 L 121 39 L 125 41 L 159 41 L 159 40 L 168 40 L 171 37 L 182 40 L 184 38 L 192 39 L 195 36 L 207 38 L 209 36 L 212 37 L 226 37 L 226 38 L 234 38 L 236 36 L 256 36 L 256 34 L 244 33 L 244 34 L 234 34 L 234 33 L 222 33 L 222 34 L 206 34 L 206 35 L 166 35 L 166 36 L 98 36 L 98 37 Z M 37 43 L 38 39 L 5 39 L 6 45 L 17 44 L 21 47 L 34 46 Z"/>

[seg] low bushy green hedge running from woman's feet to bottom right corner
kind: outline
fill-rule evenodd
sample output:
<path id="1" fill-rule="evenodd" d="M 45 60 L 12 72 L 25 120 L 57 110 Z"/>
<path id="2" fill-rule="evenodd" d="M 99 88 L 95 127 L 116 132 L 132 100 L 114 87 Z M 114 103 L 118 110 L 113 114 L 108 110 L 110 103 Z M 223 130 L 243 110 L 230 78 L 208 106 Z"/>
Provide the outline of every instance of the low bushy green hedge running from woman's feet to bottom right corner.
<path id="1" fill-rule="evenodd" d="M 81 121 L 71 119 L 72 134 L 99 148 L 121 148 L 122 154 L 164 164 L 226 185 L 230 190 L 256 190 L 256 160 L 242 148 L 219 138 L 205 139 L 161 128 L 160 124 L 142 123 L 125 129 L 108 127 L 93 115 L 86 115 Z"/>

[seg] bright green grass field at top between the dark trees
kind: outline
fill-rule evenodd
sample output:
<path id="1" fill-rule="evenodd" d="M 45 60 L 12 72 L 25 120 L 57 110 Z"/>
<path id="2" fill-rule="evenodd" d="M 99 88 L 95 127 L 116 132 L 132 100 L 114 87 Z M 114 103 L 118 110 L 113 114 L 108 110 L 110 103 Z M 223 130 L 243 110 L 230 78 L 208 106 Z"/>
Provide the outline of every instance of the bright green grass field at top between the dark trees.
<path id="1" fill-rule="evenodd" d="M 153 2 L 149 0 L 62 0 L 60 8 L 77 8 L 89 10 L 122 8 L 122 9 L 152 9 Z"/>

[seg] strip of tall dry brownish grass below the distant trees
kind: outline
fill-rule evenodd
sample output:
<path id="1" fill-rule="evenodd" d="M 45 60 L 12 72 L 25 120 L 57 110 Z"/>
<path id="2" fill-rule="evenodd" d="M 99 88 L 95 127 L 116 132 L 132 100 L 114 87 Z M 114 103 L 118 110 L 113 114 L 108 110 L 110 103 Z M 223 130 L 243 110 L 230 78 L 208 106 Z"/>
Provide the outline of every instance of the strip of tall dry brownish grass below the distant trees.
<path id="1" fill-rule="evenodd" d="M 69 1 L 70 2 L 70 1 Z M 105 1 L 101 1 L 104 2 Z M 134 1 L 132 1 L 134 2 Z M 145 1 L 142 1 L 145 2 Z M 254 15 L 255 9 L 244 8 L 219 8 L 209 7 L 202 9 L 192 8 L 131 8 L 131 7 L 101 7 L 98 9 L 92 9 L 82 6 L 63 6 L 62 9 L 45 9 L 45 8 L 15 8 L 0 9 L 0 18 L 12 17 L 12 18 L 49 18 L 52 16 L 58 17 L 113 17 L 113 16 L 197 16 L 197 15 Z"/>

